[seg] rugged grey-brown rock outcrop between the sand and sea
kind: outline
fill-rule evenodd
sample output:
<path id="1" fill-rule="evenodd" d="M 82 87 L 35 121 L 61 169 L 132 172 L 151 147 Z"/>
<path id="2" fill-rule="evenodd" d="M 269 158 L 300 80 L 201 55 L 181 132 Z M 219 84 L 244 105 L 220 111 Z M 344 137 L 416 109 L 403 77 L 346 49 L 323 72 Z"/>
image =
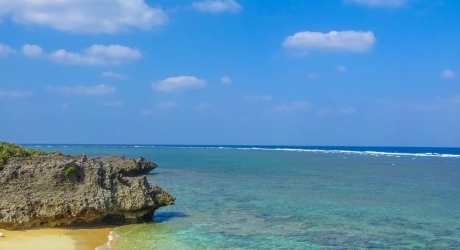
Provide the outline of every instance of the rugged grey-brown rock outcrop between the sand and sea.
<path id="1" fill-rule="evenodd" d="M 152 221 L 174 198 L 148 183 L 156 168 L 121 156 L 13 157 L 0 169 L 0 228 L 121 225 Z"/>

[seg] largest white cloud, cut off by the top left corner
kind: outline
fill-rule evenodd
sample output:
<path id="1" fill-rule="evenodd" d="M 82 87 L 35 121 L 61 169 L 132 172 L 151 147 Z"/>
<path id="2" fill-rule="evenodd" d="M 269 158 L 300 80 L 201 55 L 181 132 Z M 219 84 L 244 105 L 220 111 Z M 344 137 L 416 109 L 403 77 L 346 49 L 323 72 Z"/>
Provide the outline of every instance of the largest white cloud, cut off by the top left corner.
<path id="1" fill-rule="evenodd" d="M 163 10 L 144 0 L 0 0 L 2 16 L 73 33 L 116 33 L 131 27 L 149 30 L 167 20 Z"/>

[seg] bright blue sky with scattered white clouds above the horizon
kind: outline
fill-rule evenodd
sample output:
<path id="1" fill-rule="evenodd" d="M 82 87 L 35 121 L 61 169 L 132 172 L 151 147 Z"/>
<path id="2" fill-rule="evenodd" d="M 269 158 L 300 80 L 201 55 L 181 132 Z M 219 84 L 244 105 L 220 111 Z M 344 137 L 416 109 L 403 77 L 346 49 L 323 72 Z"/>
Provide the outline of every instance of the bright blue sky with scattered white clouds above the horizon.
<path id="1" fill-rule="evenodd" d="M 457 0 L 0 0 L 0 141 L 460 147 Z"/>

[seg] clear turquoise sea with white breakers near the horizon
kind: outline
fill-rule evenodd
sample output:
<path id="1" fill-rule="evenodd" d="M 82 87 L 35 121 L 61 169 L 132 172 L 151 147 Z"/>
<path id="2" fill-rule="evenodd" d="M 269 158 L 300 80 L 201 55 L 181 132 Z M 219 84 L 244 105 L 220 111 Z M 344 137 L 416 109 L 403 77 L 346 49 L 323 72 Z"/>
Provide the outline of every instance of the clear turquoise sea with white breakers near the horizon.
<path id="1" fill-rule="evenodd" d="M 460 148 L 24 146 L 158 164 L 176 204 L 110 249 L 460 249 Z"/>

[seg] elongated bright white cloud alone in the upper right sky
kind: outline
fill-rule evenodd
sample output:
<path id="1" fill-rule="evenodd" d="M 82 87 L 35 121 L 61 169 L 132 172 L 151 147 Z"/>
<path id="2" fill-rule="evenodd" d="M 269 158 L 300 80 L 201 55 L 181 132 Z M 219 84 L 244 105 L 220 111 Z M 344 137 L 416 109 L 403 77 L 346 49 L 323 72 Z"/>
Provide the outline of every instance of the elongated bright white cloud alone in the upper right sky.
<path id="1" fill-rule="evenodd" d="M 283 46 L 301 53 L 309 51 L 369 51 L 375 43 L 371 31 L 331 31 L 329 33 L 304 31 L 287 37 Z"/>

